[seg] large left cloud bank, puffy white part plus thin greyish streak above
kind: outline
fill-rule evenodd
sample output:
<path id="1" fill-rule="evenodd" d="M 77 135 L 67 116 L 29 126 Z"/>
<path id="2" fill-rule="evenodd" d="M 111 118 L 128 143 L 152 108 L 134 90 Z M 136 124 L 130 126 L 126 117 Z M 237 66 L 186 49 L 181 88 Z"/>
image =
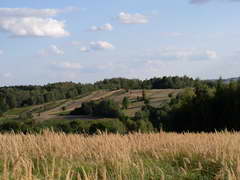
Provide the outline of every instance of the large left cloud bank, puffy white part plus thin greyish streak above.
<path id="1" fill-rule="evenodd" d="M 65 22 L 52 18 L 59 9 L 0 8 L 0 30 L 11 36 L 65 37 Z"/>

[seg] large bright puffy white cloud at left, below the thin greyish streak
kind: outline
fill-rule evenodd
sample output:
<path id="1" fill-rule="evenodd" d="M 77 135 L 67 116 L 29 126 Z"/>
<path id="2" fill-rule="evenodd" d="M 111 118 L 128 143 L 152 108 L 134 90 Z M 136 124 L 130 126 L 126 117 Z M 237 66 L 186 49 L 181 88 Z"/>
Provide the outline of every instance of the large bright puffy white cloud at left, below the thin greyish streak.
<path id="1" fill-rule="evenodd" d="M 13 36 L 64 37 L 69 35 L 64 26 L 64 22 L 51 18 L 0 18 L 0 29 Z"/>

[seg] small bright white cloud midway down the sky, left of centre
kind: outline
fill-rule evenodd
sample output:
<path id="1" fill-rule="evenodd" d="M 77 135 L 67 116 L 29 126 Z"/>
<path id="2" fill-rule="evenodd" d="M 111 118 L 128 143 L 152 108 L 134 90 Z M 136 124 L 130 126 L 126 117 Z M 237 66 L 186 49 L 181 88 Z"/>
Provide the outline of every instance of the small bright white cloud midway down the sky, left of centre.
<path id="1" fill-rule="evenodd" d="M 90 52 L 98 50 L 114 49 L 114 46 L 107 41 L 91 42 L 87 47 L 81 47 L 81 52 Z"/>

